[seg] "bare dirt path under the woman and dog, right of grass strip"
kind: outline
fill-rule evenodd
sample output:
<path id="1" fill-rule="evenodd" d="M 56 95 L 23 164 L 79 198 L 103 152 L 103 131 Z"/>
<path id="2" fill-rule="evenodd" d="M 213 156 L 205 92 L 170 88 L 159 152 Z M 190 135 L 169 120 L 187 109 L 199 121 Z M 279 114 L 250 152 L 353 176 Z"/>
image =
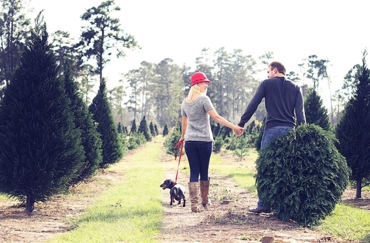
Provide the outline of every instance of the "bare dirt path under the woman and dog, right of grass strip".
<path id="1" fill-rule="evenodd" d="M 165 168 L 174 163 L 173 156 L 165 155 L 162 161 Z M 171 179 L 174 170 L 167 169 L 165 174 L 165 179 Z M 163 192 L 165 214 L 160 242 L 251 243 L 261 242 L 263 237 L 273 237 L 274 242 L 281 243 L 342 242 L 324 233 L 301 228 L 294 222 L 284 223 L 271 214 L 249 213 L 248 208 L 257 204 L 256 195 L 237 187 L 229 178 L 210 176 L 212 206 L 201 213 L 191 212 L 190 200 L 186 207 L 169 206 L 169 191 Z M 188 175 L 181 171 L 178 183 L 187 188 L 187 181 Z"/>

